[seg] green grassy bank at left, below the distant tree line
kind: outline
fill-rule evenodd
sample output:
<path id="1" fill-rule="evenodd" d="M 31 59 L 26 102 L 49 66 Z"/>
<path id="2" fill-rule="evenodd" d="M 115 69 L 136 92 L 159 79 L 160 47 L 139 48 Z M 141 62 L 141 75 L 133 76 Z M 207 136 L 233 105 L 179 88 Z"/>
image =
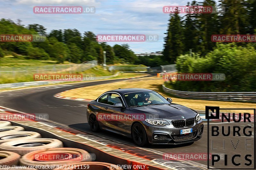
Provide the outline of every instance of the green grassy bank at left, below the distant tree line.
<path id="1" fill-rule="evenodd" d="M 34 81 L 33 74 L 35 73 L 51 74 L 52 73 L 51 69 L 53 68 L 53 65 L 56 65 L 56 67 L 59 67 L 59 66 L 64 67 L 66 64 L 70 64 L 70 63 L 65 62 L 64 64 L 57 64 L 56 61 L 27 59 L 26 56 L 22 56 L 22 55 L 18 55 L 17 58 L 14 58 L 12 55 L 5 56 L 3 58 L 0 58 L 0 71 L 9 71 L 9 72 L 0 72 L 0 84 Z M 48 67 L 49 65 L 50 67 Z M 131 69 L 134 67 L 146 67 L 144 65 L 120 65 L 120 67 L 121 66 L 124 66 L 125 68 L 131 68 Z M 47 69 L 50 69 L 50 71 Z M 45 71 L 20 72 L 20 70 L 45 70 Z M 82 72 L 81 71 L 71 72 L 67 70 L 65 72 L 54 72 L 54 73 L 83 74 L 83 77 L 101 77 L 101 76 L 110 76 L 115 74 L 116 72 L 117 70 L 110 72 L 108 70 L 103 69 L 101 66 L 96 66 L 94 68 L 84 70 Z M 121 77 L 122 76 L 120 76 L 120 78 Z"/>

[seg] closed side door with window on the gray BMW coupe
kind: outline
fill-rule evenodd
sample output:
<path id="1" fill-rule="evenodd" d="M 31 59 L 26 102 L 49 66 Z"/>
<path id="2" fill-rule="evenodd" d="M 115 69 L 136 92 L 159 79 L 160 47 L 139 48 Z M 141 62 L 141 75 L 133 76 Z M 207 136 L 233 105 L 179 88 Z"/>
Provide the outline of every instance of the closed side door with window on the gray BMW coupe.
<path id="1" fill-rule="evenodd" d="M 122 133 L 126 132 L 125 128 L 125 108 L 114 107 L 115 103 L 122 103 L 124 106 L 124 101 L 118 93 L 108 94 L 107 107 L 104 107 L 104 113 L 109 114 L 106 124 L 109 128 L 114 131 L 119 131 Z"/>

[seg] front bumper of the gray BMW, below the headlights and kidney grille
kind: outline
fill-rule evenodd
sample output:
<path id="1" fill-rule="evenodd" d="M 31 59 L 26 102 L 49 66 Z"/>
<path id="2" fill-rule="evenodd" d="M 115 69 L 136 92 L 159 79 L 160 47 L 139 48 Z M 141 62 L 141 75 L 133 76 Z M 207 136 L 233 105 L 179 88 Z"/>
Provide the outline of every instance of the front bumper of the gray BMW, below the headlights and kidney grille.
<path id="1" fill-rule="evenodd" d="M 155 126 L 143 122 L 150 144 L 185 144 L 199 140 L 203 135 L 204 123 L 201 119 L 191 127 L 175 128 L 172 125 Z M 192 128 L 192 133 L 180 135 L 180 129 Z M 157 139 L 154 136 L 157 135 Z"/>

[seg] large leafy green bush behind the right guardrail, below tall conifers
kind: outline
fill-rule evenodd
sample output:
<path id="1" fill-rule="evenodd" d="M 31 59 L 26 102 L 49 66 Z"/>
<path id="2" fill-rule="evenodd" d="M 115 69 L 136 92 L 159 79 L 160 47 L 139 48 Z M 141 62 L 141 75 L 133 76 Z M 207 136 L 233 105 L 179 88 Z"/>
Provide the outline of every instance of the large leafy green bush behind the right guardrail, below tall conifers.
<path id="1" fill-rule="evenodd" d="M 224 73 L 224 81 L 176 81 L 169 84 L 176 90 L 198 92 L 255 92 L 256 50 L 235 43 L 217 43 L 205 57 L 181 55 L 177 58 L 179 73 Z"/>

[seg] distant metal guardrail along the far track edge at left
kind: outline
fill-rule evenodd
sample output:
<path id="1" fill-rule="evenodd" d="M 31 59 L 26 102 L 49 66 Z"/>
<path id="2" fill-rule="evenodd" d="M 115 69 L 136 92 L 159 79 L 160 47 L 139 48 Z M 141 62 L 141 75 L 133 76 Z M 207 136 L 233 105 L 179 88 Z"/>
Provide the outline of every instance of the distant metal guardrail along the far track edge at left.
<path id="1" fill-rule="evenodd" d="M 81 81 L 87 81 L 87 80 L 100 80 L 100 79 L 106 79 L 106 78 L 112 78 L 116 77 L 118 73 L 111 76 L 102 76 L 102 77 L 84 77 Z M 77 80 L 76 80 L 77 81 Z M 36 85 L 51 85 L 56 83 L 63 83 L 63 82 L 72 82 L 67 80 L 45 80 L 45 81 L 31 81 L 31 82 L 21 82 L 21 83 L 10 83 L 10 84 L 0 84 L 0 89 L 4 88 L 19 88 L 19 87 L 30 87 L 30 86 L 36 86 Z"/>

